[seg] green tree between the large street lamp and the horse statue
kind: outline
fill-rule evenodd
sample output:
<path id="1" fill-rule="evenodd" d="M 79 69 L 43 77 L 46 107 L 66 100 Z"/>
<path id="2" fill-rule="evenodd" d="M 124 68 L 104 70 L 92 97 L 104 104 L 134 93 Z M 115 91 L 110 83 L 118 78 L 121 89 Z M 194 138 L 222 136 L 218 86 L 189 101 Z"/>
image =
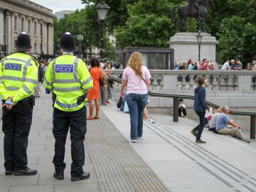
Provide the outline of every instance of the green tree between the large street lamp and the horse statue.
<path id="1" fill-rule="evenodd" d="M 180 3 L 182 3 L 181 1 Z M 125 26 L 117 28 L 117 43 L 125 46 L 166 47 L 167 41 L 176 33 L 176 23 L 171 23 L 171 8 L 178 1 L 139 0 L 129 5 Z M 189 28 L 196 25 L 192 20 Z M 191 24 L 192 23 L 192 24 Z"/>

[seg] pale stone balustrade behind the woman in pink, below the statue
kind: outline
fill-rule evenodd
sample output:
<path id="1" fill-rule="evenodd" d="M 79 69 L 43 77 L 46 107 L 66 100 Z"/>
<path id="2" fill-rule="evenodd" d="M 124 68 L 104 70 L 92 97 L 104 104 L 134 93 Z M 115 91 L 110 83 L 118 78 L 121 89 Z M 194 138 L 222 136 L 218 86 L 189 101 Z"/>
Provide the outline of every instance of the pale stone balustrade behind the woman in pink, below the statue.
<path id="1" fill-rule="evenodd" d="M 196 79 L 205 75 L 209 91 L 253 91 L 256 90 L 256 71 L 203 71 L 203 70 L 151 70 L 149 90 L 194 90 Z M 122 70 L 113 70 L 120 75 Z"/>

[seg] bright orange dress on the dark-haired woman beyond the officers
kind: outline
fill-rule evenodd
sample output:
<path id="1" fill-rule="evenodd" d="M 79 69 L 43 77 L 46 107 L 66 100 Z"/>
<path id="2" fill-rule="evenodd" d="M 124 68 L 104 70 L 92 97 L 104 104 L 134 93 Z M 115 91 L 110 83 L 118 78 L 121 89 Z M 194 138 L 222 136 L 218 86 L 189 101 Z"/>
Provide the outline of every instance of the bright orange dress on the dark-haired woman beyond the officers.
<path id="1" fill-rule="evenodd" d="M 100 68 L 91 68 L 90 75 L 93 80 L 93 88 L 88 91 L 88 99 L 89 100 L 99 100 L 100 99 L 100 76 L 101 70 Z"/>

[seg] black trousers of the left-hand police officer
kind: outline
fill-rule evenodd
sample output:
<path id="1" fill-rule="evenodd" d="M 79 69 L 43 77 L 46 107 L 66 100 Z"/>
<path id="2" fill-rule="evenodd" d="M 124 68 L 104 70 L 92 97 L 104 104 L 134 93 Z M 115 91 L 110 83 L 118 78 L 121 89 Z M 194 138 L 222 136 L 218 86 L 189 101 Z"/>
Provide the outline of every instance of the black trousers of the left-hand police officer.
<path id="1" fill-rule="evenodd" d="M 28 134 L 31 129 L 33 105 L 18 102 L 11 110 L 3 107 L 4 167 L 6 171 L 27 168 Z"/>

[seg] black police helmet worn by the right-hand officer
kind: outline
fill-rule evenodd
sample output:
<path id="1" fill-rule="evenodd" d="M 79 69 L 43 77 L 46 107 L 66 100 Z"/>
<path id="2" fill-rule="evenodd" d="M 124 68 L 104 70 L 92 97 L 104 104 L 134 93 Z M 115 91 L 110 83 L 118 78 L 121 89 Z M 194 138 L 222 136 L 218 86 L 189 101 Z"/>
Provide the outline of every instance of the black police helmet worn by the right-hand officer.
<path id="1" fill-rule="evenodd" d="M 69 32 L 62 34 L 59 46 L 60 48 L 63 48 L 64 50 L 68 51 L 75 51 L 78 49 L 77 46 L 75 46 L 74 36 Z"/>

